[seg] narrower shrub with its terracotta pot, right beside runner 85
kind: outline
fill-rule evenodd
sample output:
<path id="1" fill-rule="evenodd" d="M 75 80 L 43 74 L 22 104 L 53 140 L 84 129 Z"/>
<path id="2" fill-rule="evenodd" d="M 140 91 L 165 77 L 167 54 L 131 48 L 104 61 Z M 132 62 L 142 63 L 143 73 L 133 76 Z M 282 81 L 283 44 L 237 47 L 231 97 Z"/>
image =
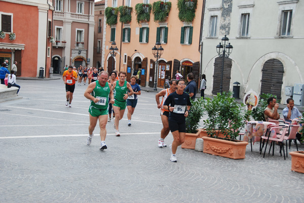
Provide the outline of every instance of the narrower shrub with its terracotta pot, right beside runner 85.
<path id="1" fill-rule="evenodd" d="M 203 102 L 202 97 L 196 99 L 196 101 L 191 100 L 192 106 L 186 118 L 185 141 L 181 144 L 181 148 L 195 149 L 196 139 L 207 136 L 206 133 L 201 133 L 201 129 L 199 129 L 199 122 L 204 115 Z"/>

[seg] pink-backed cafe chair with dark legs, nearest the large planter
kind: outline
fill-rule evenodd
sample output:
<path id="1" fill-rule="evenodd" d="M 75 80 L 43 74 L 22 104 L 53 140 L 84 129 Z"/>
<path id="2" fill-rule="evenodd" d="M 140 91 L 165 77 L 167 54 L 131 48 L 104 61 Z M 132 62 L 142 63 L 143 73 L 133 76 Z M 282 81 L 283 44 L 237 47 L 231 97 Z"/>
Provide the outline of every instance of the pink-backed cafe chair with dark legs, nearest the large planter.
<path id="1" fill-rule="evenodd" d="M 277 130 L 279 130 L 280 128 L 283 128 L 283 131 L 282 131 L 282 134 L 279 134 L 279 133 L 276 133 L 278 136 L 274 136 L 274 137 L 270 137 L 270 133 L 274 130 L 275 132 L 277 132 Z M 287 128 L 288 128 L 288 125 L 284 125 L 284 126 L 278 126 L 278 125 L 275 125 L 275 126 L 271 126 L 270 127 L 270 131 L 269 131 L 269 134 L 268 136 L 262 136 L 262 141 L 263 141 L 263 144 L 262 144 L 262 148 L 264 146 L 264 142 L 265 140 L 267 140 L 266 142 L 266 145 L 265 145 L 265 150 L 264 150 L 264 155 L 263 155 L 263 158 L 265 158 L 265 153 L 266 153 L 266 149 L 267 149 L 267 144 L 269 141 L 271 141 L 271 144 L 273 145 L 273 156 L 274 156 L 274 151 L 275 151 L 275 142 L 278 142 L 279 145 L 280 145 L 280 154 L 281 154 L 281 157 L 282 157 L 282 149 L 283 149 L 283 154 L 284 154 L 284 160 L 286 160 L 285 158 L 285 151 L 284 151 L 284 146 L 283 146 L 283 142 L 284 142 L 284 137 L 285 136 L 280 136 L 280 135 L 285 135 L 286 134 L 286 131 L 287 131 Z M 261 148 L 261 150 L 262 150 Z M 270 146 L 270 149 L 269 149 L 269 153 L 270 154 L 270 150 L 271 150 L 271 146 Z"/>

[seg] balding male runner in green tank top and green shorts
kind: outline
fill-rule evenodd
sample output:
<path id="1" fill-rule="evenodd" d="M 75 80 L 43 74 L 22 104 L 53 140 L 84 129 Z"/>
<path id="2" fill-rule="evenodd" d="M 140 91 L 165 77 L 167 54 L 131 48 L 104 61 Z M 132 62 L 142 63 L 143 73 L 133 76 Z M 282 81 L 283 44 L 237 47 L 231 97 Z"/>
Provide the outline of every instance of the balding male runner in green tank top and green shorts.
<path id="1" fill-rule="evenodd" d="M 102 71 L 99 79 L 95 82 L 89 84 L 85 91 L 85 97 L 91 100 L 91 105 L 89 108 L 90 113 L 90 125 L 89 125 L 89 136 L 87 138 L 87 144 L 90 145 L 93 137 L 93 131 L 99 120 L 100 127 L 100 150 L 106 149 L 105 144 L 106 129 L 107 124 L 107 114 L 108 114 L 108 103 L 114 104 L 114 95 L 112 90 L 112 85 L 107 83 L 108 73 Z M 108 100 L 110 98 L 110 100 Z"/>

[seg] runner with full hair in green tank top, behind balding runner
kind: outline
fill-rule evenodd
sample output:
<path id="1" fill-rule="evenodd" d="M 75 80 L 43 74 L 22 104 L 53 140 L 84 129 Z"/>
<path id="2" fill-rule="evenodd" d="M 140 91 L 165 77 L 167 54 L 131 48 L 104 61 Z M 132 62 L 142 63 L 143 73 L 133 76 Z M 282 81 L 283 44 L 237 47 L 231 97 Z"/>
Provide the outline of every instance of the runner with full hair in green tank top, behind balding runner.
<path id="1" fill-rule="evenodd" d="M 129 95 L 132 95 L 133 89 L 129 82 L 125 81 L 125 78 L 127 76 L 127 73 L 124 71 L 120 71 L 118 73 L 119 81 L 114 82 L 112 86 L 112 90 L 115 89 L 115 104 L 113 104 L 113 110 L 115 112 L 115 122 L 114 122 L 114 128 L 116 129 L 115 134 L 116 136 L 120 136 L 119 133 L 119 121 L 123 118 L 125 109 L 127 106 L 127 98 Z M 130 91 L 127 93 L 127 91 Z"/>

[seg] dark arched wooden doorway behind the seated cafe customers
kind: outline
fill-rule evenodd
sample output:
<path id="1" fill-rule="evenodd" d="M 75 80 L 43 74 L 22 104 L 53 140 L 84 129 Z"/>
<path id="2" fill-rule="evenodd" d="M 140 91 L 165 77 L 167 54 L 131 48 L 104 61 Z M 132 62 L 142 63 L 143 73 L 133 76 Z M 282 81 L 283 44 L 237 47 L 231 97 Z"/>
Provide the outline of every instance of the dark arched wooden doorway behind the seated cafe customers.
<path id="1" fill-rule="evenodd" d="M 261 94 L 271 93 L 281 99 L 284 66 L 277 59 L 270 59 L 262 68 Z"/>

